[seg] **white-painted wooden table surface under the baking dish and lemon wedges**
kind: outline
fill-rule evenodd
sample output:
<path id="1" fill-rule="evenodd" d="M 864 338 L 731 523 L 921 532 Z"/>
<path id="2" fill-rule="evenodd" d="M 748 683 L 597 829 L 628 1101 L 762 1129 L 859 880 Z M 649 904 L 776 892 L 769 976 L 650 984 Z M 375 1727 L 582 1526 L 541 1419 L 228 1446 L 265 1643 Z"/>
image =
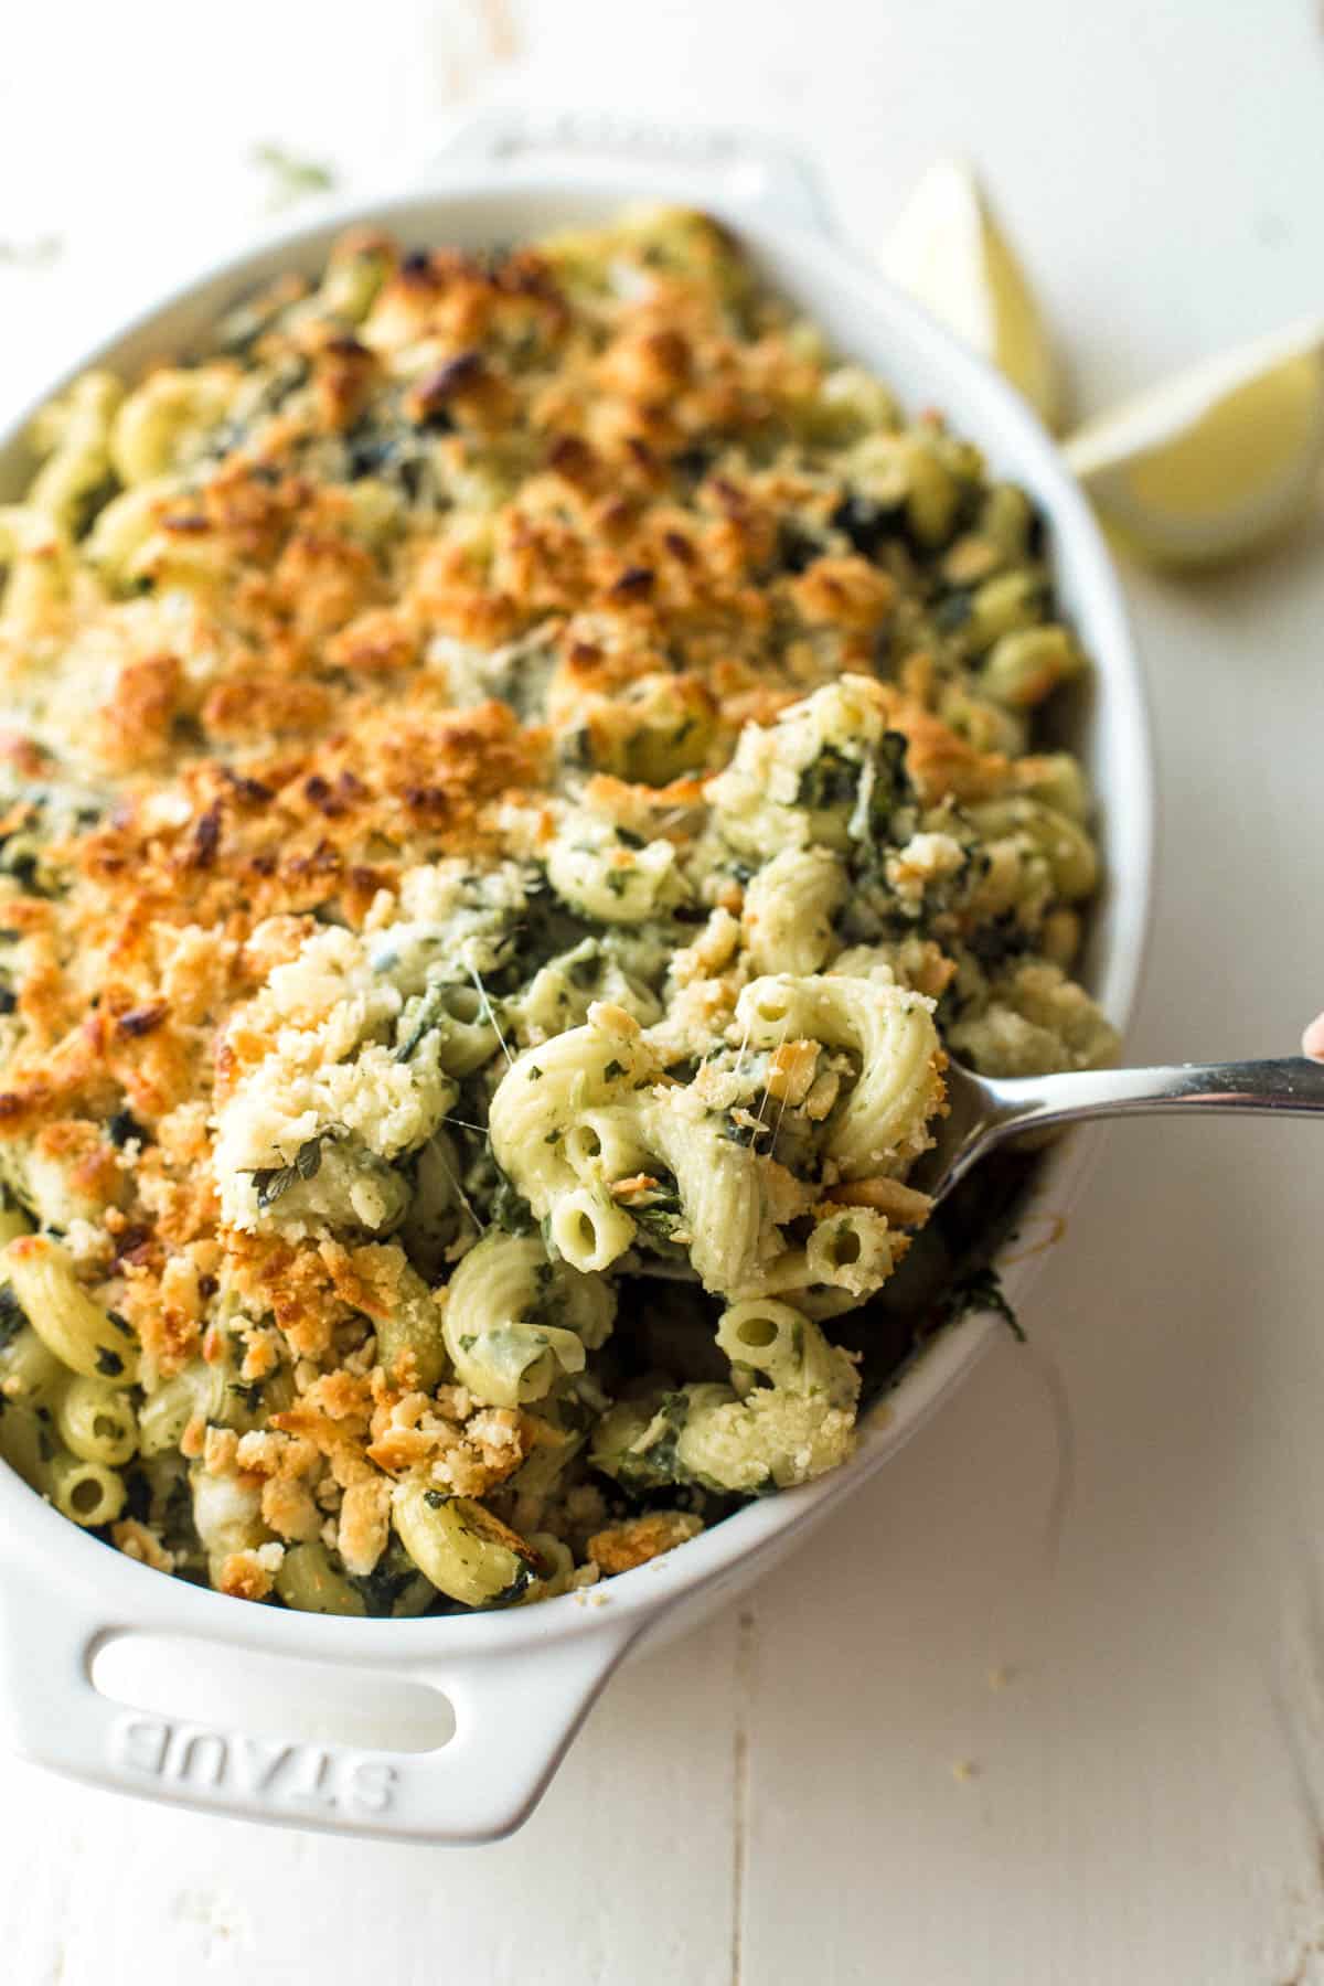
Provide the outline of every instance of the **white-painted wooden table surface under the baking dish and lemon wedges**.
<path id="1" fill-rule="evenodd" d="M 766 123 L 867 240 L 989 173 L 1096 407 L 1324 308 L 1316 0 L 44 0 L 0 73 L 10 381 L 262 201 L 463 101 Z M 8 387 L 6 387 L 8 391 Z M 1324 1001 L 1324 512 L 1129 574 L 1165 848 L 1137 1057 Z M 0 1764 L 0 1978 L 391 1986 L 1324 1980 L 1320 1132 L 1116 1130 L 1010 1341 L 788 1569 L 623 1676 L 528 1829 L 433 1853 Z"/>

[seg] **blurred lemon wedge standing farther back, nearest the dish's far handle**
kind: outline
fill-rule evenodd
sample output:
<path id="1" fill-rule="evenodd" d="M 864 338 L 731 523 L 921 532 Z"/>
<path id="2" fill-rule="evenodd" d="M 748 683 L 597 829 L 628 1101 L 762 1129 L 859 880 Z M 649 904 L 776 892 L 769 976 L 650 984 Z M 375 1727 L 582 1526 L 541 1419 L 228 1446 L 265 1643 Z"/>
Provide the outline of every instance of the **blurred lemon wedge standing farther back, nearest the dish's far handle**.
<path id="1" fill-rule="evenodd" d="M 1052 342 L 969 165 L 939 159 L 929 167 L 883 244 L 881 266 L 899 290 L 996 365 L 1052 427 L 1060 403 Z"/>

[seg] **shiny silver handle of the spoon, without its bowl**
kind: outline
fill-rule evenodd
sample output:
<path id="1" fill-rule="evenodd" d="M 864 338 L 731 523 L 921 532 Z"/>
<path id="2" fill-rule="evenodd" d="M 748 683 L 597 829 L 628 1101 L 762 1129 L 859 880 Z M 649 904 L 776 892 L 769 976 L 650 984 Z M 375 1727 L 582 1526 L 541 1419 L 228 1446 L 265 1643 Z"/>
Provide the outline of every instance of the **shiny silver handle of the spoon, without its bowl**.
<path id="1" fill-rule="evenodd" d="M 1171 1110 L 1324 1114 L 1324 1063 L 1304 1055 L 1280 1063 L 1175 1063 L 1167 1068 L 983 1078 L 983 1088 L 994 1106 L 991 1130 L 998 1138 L 1078 1118 L 1163 1116 Z"/>

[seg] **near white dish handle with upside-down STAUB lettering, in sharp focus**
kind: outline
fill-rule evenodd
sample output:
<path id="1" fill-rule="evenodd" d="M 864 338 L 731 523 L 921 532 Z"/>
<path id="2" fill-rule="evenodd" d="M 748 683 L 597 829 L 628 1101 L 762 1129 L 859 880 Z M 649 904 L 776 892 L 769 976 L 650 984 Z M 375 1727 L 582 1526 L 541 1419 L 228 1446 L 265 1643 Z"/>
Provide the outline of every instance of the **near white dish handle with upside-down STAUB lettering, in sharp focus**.
<path id="1" fill-rule="evenodd" d="M 407 1636 L 409 1623 L 397 1631 Z M 14 1750 L 75 1779 L 185 1807 L 439 1843 L 494 1841 L 520 1825 L 627 1642 L 594 1623 L 508 1654 L 375 1662 L 383 1686 L 397 1678 L 437 1688 L 455 1714 L 455 1736 L 435 1752 L 373 1752 L 125 1708 L 95 1688 L 91 1660 L 103 1640 L 133 1632 L 169 1634 L 187 1654 L 189 1636 L 169 1605 L 147 1603 L 133 1623 L 107 1629 L 54 1575 L 6 1565 L 0 1714 Z M 250 1638 L 242 1627 L 230 1636 L 212 1629 L 206 1644 L 218 1640 L 242 1650 Z M 258 1638 L 250 1644 L 256 1650 Z M 260 1652 L 280 1662 L 270 1642 Z M 292 1664 L 302 1702 L 308 1676 L 306 1660 Z"/>

